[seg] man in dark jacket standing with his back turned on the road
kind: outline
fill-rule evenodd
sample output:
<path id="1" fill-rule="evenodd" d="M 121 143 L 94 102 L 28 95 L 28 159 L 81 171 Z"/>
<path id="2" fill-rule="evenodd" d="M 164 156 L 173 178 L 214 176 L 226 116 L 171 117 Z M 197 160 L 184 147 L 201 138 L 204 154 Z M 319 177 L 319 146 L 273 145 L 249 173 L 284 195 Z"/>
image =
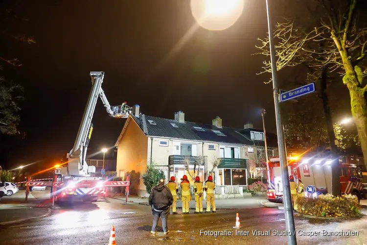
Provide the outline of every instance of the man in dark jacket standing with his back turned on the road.
<path id="1" fill-rule="evenodd" d="M 153 212 L 153 225 L 150 233 L 156 234 L 156 227 L 160 217 L 164 235 L 168 233 L 167 219 L 172 203 L 173 196 L 171 191 L 164 185 L 164 179 L 160 179 L 159 184 L 153 187 L 149 196 L 149 205 L 152 206 Z"/>

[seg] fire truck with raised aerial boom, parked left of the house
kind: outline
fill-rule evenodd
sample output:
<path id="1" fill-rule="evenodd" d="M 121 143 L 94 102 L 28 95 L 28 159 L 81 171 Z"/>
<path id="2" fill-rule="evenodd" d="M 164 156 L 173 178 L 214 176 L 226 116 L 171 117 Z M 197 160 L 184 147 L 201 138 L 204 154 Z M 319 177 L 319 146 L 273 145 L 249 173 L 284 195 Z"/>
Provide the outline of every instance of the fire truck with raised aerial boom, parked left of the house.
<path id="1" fill-rule="evenodd" d="M 101 98 L 109 116 L 127 118 L 132 112 L 126 102 L 118 106 L 111 106 L 101 86 L 104 72 L 91 72 L 92 89 L 84 110 L 82 121 L 75 139 L 74 147 L 67 154 L 67 162 L 56 169 L 55 184 L 53 186 L 57 201 L 83 200 L 97 201 L 98 196 L 105 193 L 107 182 L 102 177 L 92 176 L 95 166 L 88 166 L 86 162 L 87 148 L 92 136 L 92 118 L 98 97 Z M 113 183 L 115 186 L 126 186 L 126 183 Z M 127 183 L 128 184 L 128 183 Z M 59 188 L 59 186 L 61 188 Z M 56 191 L 57 190 L 57 191 Z"/>

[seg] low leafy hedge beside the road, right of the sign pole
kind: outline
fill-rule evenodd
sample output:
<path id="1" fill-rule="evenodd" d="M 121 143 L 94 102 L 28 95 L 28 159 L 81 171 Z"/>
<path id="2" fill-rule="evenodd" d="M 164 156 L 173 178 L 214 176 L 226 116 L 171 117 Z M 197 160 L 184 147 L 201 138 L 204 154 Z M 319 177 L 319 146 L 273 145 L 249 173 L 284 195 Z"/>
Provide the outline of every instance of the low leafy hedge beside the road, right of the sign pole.
<path id="1" fill-rule="evenodd" d="M 358 197 L 353 195 L 320 195 L 316 198 L 300 196 L 297 211 L 317 217 L 354 217 L 361 213 Z"/>

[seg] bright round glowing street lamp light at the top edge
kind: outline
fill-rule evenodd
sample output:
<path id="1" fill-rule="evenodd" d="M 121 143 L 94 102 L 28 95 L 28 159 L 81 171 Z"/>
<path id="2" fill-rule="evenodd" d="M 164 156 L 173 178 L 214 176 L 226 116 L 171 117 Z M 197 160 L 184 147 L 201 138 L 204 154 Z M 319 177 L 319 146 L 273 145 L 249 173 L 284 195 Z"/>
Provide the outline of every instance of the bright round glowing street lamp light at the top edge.
<path id="1" fill-rule="evenodd" d="M 224 30 L 241 16 L 244 0 L 191 0 L 196 22 L 208 30 Z"/>

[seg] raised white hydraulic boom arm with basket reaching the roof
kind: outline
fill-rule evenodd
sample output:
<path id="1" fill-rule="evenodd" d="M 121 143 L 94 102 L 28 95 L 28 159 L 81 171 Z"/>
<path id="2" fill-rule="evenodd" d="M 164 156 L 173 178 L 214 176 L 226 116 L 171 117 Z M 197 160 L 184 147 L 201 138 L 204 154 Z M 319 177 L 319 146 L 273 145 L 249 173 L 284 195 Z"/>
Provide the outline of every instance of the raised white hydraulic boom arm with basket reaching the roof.
<path id="1" fill-rule="evenodd" d="M 92 135 L 92 118 L 98 97 L 101 98 L 108 114 L 111 117 L 127 118 L 131 113 L 131 107 L 124 102 L 119 106 L 111 106 L 108 102 L 102 82 L 104 72 L 91 72 L 92 89 L 89 94 L 87 106 L 84 110 L 82 122 L 80 123 L 78 134 L 75 139 L 74 147 L 68 154 L 68 173 L 69 175 L 87 175 L 89 172 L 86 162 L 87 147 Z"/>

